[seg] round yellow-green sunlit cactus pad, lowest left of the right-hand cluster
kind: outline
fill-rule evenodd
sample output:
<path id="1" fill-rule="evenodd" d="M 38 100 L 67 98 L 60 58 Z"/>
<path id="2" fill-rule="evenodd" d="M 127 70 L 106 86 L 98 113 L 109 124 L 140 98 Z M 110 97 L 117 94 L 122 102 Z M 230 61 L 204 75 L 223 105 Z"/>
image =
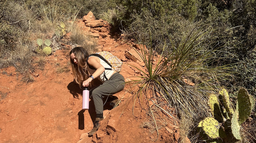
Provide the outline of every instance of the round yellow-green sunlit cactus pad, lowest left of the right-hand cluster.
<path id="1" fill-rule="evenodd" d="M 219 122 L 212 117 L 207 117 L 202 122 L 204 133 L 212 139 L 220 137 L 219 130 L 222 129 L 220 126 Z"/>

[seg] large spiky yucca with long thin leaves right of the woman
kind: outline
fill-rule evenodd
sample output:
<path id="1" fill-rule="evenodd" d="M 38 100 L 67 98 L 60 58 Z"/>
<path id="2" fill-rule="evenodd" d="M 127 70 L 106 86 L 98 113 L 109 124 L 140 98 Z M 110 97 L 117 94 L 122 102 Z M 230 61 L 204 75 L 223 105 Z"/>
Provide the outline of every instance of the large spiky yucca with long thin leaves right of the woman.
<path id="1" fill-rule="evenodd" d="M 131 81 L 139 86 L 137 96 L 153 90 L 159 95 L 155 98 L 163 98 L 169 105 L 176 107 L 178 113 L 184 110 L 194 119 L 208 114 L 206 94 L 218 90 L 221 83 L 231 76 L 231 72 L 227 66 L 212 66 L 216 59 L 222 59 L 218 57 L 222 55 L 221 47 L 215 45 L 218 50 L 213 50 L 210 46 L 214 42 L 211 41 L 215 41 L 216 36 L 210 37 L 211 31 L 202 29 L 193 30 L 177 46 L 165 45 L 155 65 L 156 52 L 152 44 L 148 52 L 141 47 L 138 54 L 145 63 L 146 72 L 136 67 L 143 74 L 140 79 Z M 166 46 L 171 46 L 172 51 L 164 54 Z M 189 86 L 184 79 L 190 80 L 195 86 Z"/>

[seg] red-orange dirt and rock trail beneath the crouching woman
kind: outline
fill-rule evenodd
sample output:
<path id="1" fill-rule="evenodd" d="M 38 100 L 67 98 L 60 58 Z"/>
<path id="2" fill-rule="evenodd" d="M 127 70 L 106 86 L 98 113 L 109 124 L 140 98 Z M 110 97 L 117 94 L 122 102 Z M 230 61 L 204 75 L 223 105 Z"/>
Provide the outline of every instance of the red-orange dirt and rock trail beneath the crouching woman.
<path id="1" fill-rule="evenodd" d="M 110 33 L 109 24 L 105 21 L 88 21 L 88 17 L 92 18 L 92 15 L 88 14 L 78 24 L 82 25 L 84 33 L 98 40 L 98 50 L 110 51 L 123 61 L 120 74 L 126 81 L 140 76 L 141 72 L 133 66 L 145 70 L 135 51 L 136 47 L 142 45 L 124 42 L 120 35 Z M 68 41 L 69 34 L 64 39 Z M 72 72 L 56 72 L 56 65 L 65 67 L 69 62 L 72 46 L 68 42 L 62 45 L 60 50 L 45 57 L 47 62 L 44 70 L 33 73 L 35 81 L 32 83 L 21 82 L 21 76 L 13 67 L 0 70 L 0 143 L 179 141 L 178 121 L 160 110 L 158 120 L 164 120 L 158 128 L 158 137 L 154 123 L 149 118 L 148 107 L 133 96 L 132 89 L 137 87 L 131 89 L 128 84 L 123 91 L 115 94 L 122 101 L 119 106 L 114 109 L 104 106 L 101 126 L 96 134 L 89 137 L 87 133 L 93 128 L 95 120 L 94 104 L 90 101 L 90 109 L 81 110 L 82 89 L 73 82 Z M 33 57 L 33 60 L 36 58 Z M 150 95 L 147 97 L 152 98 Z"/>

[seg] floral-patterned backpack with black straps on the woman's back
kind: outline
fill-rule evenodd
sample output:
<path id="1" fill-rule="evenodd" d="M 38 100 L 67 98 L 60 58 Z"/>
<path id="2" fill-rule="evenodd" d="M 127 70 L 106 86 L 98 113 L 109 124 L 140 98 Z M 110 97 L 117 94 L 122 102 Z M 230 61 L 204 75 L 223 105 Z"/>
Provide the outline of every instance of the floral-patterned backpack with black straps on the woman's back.
<path id="1" fill-rule="evenodd" d="M 101 58 L 103 61 L 105 61 L 111 67 L 111 68 L 105 68 L 105 70 L 113 70 L 113 71 L 117 71 L 117 72 L 121 71 L 123 62 L 119 58 L 117 58 L 117 56 L 114 56 L 110 52 L 102 51 L 102 52 L 98 52 L 95 54 L 91 54 L 87 57 L 86 63 L 89 66 L 89 68 L 95 69 L 93 66 L 89 65 L 87 62 L 88 58 L 90 56 L 97 56 L 97 57 Z"/>

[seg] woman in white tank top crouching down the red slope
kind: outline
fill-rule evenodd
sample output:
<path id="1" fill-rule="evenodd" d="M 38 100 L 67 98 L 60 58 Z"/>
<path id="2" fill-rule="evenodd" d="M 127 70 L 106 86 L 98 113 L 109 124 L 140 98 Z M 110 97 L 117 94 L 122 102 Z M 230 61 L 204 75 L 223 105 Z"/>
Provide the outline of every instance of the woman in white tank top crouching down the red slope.
<path id="1" fill-rule="evenodd" d="M 90 99 L 93 99 L 96 110 L 94 126 L 92 131 L 89 132 L 89 136 L 91 136 L 98 130 L 100 126 L 99 121 L 103 120 L 102 98 L 113 98 L 113 94 L 123 90 L 124 77 L 118 72 L 111 70 L 109 64 L 101 58 L 88 55 L 88 52 L 83 47 L 75 47 L 70 51 L 69 55 L 74 81 L 80 88 L 96 86 L 91 89 L 92 92 L 90 91 L 92 93 Z M 100 81 L 99 85 L 95 85 L 96 79 Z"/>

